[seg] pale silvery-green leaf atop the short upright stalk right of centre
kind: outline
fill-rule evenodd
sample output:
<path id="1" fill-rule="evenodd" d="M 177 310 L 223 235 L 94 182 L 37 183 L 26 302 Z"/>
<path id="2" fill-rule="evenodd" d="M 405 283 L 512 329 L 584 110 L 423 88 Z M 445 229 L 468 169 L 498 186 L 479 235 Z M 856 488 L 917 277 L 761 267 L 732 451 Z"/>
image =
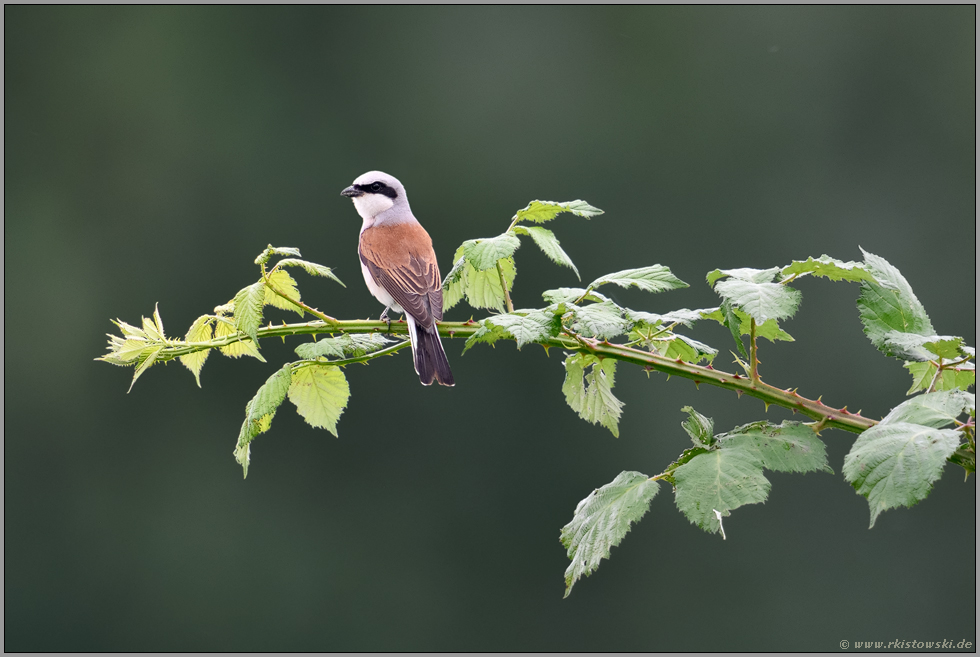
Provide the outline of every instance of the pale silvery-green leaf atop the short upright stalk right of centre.
<path id="1" fill-rule="evenodd" d="M 786 319 L 796 314 L 803 296 L 799 290 L 772 283 L 779 272 L 773 269 L 726 269 L 708 274 L 708 281 L 715 292 L 762 324 L 770 319 Z M 728 279 L 715 283 L 719 278 Z"/>

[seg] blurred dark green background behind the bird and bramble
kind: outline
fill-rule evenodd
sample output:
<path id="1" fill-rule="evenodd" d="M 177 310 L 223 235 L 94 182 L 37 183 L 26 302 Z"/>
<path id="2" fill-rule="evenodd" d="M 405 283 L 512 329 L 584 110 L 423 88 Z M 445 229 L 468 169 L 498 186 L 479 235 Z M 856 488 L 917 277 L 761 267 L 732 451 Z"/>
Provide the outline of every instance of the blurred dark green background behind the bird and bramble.
<path id="1" fill-rule="evenodd" d="M 110 318 L 155 302 L 168 332 L 255 278 L 269 242 L 375 317 L 340 190 L 399 177 L 445 273 L 533 198 L 606 214 L 552 227 L 583 279 L 669 265 L 716 305 L 715 267 L 858 245 L 899 267 L 940 333 L 975 344 L 975 8 L 249 7 L 4 9 L 7 650 L 833 650 L 975 641 L 975 484 L 885 513 L 838 473 L 772 474 L 728 540 L 666 487 L 562 600 L 559 529 L 622 470 L 684 449 L 680 407 L 719 430 L 789 415 L 620 370 L 621 437 L 579 420 L 561 354 L 512 343 L 423 388 L 407 354 L 348 368 L 340 438 L 285 405 L 232 458 L 269 359 L 93 362 Z M 574 275 L 525 245 L 518 306 Z M 763 375 L 881 417 L 910 377 L 864 338 L 857 287 L 799 284 L 793 343 Z M 635 292 L 635 293 L 634 293 Z M 465 319 L 458 306 L 449 319 Z M 474 313 L 480 316 L 480 311 Z M 269 316 L 285 318 L 278 311 Z M 693 334 L 721 349 L 718 326 Z"/>

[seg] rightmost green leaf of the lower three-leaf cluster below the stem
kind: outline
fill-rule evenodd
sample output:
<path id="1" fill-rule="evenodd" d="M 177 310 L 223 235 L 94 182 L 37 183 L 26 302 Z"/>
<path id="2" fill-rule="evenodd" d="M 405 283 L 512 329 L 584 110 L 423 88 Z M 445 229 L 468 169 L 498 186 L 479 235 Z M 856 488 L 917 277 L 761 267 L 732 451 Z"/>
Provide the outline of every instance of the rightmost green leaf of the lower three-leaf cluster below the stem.
<path id="1" fill-rule="evenodd" d="M 827 464 L 827 448 L 802 422 L 753 422 L 718 436 L 722 449 L 744 449 L 767 470 L 834 474 Z"/>

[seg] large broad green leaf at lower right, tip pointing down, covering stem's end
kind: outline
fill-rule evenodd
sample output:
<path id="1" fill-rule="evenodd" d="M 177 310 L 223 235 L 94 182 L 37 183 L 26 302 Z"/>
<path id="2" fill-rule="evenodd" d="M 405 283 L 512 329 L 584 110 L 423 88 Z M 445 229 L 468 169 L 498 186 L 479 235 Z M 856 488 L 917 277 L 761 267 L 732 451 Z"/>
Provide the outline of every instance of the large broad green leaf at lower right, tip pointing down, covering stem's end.
<path id="1" fill-rule="evenodd" d="M 886 510 L 926 498 L 959 445 L 959 432 L 889 422 L 866 430 L 844 457 L 844 478 L 871 507 L 871 527 Z"/>

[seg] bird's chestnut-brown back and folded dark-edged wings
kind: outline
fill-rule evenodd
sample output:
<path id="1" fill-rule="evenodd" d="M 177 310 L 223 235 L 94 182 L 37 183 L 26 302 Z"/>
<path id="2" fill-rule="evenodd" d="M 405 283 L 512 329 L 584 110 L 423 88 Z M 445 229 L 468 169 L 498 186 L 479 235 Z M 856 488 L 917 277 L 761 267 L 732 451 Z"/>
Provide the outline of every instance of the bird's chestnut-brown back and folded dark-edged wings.
<path id="1" fill-rule="evenodd" d="M 421 326 L 442 320 L 439 264 L 422 226 L 372 226 L 361 233 L 358 253 L 378 285 Z"/>

